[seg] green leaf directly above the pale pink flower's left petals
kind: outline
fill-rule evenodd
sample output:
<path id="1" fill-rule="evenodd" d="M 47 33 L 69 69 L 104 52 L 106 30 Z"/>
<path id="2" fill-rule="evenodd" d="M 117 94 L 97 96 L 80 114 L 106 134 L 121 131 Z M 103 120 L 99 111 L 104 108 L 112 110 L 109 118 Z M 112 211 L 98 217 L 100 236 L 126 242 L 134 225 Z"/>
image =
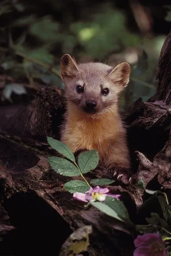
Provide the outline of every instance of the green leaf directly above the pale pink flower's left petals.
<path id="1" fill-rule="evenodd" d="M 65 183 L 64 188 L 70 193 L 85 193 L 87 190 L 89 190 L 90 187 L 84 181 L 69 181 Z"/>

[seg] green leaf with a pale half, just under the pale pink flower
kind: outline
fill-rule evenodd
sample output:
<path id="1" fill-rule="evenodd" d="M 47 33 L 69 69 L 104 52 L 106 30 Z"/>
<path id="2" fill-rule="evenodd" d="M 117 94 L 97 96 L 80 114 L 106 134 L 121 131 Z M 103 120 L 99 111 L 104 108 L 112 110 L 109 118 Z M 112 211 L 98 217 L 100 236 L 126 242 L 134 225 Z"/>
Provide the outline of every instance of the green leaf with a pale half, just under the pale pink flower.
<path id="1" fill-rule="evenodd" d="M 106 196 L 104 203 L 101 202 L 90 202 L 91 205 L 106 213 L 107 215 L 116 218 L 125 223 L 130 223 L 128 212 L 123 203 L 115 198 Z"/>

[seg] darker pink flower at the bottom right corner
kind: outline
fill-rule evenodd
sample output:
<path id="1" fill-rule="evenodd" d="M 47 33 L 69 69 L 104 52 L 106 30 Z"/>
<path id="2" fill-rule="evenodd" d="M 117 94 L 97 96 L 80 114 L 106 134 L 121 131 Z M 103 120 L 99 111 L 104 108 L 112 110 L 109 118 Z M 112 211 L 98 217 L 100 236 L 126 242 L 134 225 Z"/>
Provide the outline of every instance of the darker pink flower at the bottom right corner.
<path id="1" fill-rule="evenodd" d="M 134 245 L 137 248 L 133 256 L 167 256 L 165 242 L 159 234 L 138 235 L 134 240 Z"/>

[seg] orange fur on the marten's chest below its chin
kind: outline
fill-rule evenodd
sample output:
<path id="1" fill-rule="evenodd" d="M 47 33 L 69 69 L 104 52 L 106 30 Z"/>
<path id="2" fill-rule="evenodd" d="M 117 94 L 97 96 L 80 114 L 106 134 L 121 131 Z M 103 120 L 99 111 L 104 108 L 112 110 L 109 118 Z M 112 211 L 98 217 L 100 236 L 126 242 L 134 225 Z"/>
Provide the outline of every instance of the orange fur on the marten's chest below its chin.
<path id="1" fill-rule="evenodd" d="M 108 115 L 107 115 L 108 114 Z M 110 147 L 110 142 L 117 139 L 118 120 L 107 113 L 99 119 L 90 119 L 78 113 L 68 116 L 62 140 L 73 152 L 80 149 L 97 149 L 99 153 Z"/>

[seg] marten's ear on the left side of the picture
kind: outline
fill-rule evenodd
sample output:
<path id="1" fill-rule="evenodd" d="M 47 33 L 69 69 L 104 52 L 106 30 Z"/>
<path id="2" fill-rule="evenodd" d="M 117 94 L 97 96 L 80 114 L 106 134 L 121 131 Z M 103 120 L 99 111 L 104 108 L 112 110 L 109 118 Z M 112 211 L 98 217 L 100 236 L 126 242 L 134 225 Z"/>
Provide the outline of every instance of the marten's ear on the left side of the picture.
<path id="1" fill-rule="evenodd" d="M 64 54 L 61 58 L 60 66 L 61 79 L 65 79 L 65 77 L 75 76 L 76 71 L 79 71 L 76 62 L 71 58 L 69 54 Z"/>

